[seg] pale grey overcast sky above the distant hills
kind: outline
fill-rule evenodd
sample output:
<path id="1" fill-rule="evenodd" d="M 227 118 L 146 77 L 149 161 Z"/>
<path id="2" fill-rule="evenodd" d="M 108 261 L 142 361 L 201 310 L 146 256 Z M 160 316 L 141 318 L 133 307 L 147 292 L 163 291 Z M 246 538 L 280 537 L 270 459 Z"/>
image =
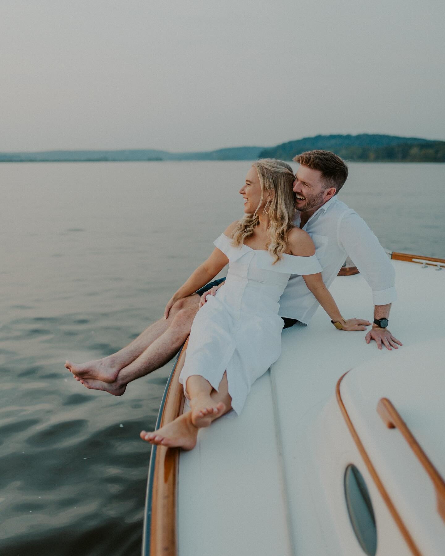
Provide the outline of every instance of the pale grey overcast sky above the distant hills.
<path id="1" fill-rule="evenodd" d="M 443 0 L 0 0 L 0 151 L 445 140 Z"/>

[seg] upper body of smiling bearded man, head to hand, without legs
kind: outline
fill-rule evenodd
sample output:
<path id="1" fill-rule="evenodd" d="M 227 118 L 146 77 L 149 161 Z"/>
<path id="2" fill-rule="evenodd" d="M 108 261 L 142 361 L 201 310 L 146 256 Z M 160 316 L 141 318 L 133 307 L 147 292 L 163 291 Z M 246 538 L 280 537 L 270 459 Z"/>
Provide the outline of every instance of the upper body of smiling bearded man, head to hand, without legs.
<path id="1" fill-rule="evenodd" d="M 373 294 L 374 322 L 365 340 L 368 344 L 375 340 L 379 349 L 397 349 L 402 344 L 387 328 L 391 304 L 397 298 L 394 269 L 368 225 L 337 197 L 348 177 L 347 165 L 334 153 L 321 150 L 304 152 L 294 161 L 300 164 L 293 187 L 294 224 L 311 236 L 325 285 L 332 284 L 349 256 Z M 309 324 L 318 303 L 306 290 L 301 276 L 291 276 L 280 298 L 280 316 L 292 315 Z"/>

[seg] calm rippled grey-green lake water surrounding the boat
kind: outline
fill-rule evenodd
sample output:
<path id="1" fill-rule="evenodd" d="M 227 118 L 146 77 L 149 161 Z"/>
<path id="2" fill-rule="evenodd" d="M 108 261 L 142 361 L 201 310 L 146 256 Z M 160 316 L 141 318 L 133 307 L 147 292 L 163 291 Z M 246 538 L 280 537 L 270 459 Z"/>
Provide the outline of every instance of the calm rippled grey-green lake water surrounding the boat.
<path id="1" fill-rule="evenodd" d="M 121 398 L 63 364 L 111 354 L 162 315 L 243 214 L 249 167 L 0 165 L 2 556 L 139 554 L 139 431 L 154 427 L 171 364 Z M 444 194 L 445 165 L 355 163 L 339 196 L 387 249 L 445 257 Z"/>

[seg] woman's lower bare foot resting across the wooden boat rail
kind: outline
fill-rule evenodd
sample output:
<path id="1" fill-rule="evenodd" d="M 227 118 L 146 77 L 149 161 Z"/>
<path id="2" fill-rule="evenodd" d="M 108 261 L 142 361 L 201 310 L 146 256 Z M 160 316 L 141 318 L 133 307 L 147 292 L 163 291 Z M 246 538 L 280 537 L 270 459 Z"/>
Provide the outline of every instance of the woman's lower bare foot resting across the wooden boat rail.
<path id="1" fill-rule="evenodd" d="M 191 450 L 196 446 L 197 434 L 198 429 L 191 422 L 189 411 L 152 433 L 142 430 L 140 436 L 142 440 L 146 440 L 150 444 L 161 444 L 169 448 Z"/>

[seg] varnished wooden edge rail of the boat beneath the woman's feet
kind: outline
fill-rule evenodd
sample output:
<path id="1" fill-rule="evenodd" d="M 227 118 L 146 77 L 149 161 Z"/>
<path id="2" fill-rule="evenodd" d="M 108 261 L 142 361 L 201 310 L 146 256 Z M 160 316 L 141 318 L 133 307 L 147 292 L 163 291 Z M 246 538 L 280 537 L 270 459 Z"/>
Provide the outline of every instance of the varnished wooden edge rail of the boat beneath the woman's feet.
<path id="1" fill-rule="evenodd" d="M 184 389 L 179 375 L 184 366 L 188 338 L 176 359 L 161 402 L 156 429 L 182 414 Z M 177 556 L 177 476 L 179 449 L 152 447 L 147 483 L 142 556 Z"/>

